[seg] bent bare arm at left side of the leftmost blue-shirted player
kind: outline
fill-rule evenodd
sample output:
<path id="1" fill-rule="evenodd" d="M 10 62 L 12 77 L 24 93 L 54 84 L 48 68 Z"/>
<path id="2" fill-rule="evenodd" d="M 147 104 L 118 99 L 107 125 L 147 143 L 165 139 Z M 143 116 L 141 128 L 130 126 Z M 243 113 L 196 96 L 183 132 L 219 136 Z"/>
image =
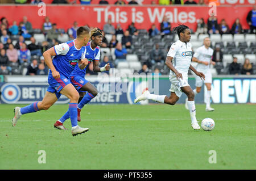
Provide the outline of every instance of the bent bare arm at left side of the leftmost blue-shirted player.
<path id="1" fill-rule="evenodd" d="M 52 71 L 52 77 L 53 78 L 60 78 L 60 73 L 56 71 L 54 65 L 52 64 L 52 56 L 56 56 L 54 48 L 50 48 L 46 50 L 43 53 L 44 60 L 46 61 L 46 65 L 48 66 L 49 69 Z"/>

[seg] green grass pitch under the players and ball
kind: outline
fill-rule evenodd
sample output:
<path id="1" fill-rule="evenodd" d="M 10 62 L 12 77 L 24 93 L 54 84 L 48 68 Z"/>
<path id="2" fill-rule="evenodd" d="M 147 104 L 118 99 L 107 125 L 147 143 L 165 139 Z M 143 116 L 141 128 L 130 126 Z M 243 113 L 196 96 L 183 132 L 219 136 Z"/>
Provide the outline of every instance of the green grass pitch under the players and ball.
<path id="1" fill-rule="evenodd" d="M 0 169 L 256 169 L 256 105 L 196 105 L 199 123 L 211 117 L 213 131 L 194 131 L 189 112 L 177 104 L 93 105 L 81 112 L 85 134 L 73 137 L 53 124 L 68 105 L 23 115 L 11 127 L 16 105 L 0 105 Z M 25 105 L 18 105 L 25 106 Z M 46 163 L 38 163 L 39 150 Z M 209 163 L 210 150 L 216 163 Z"/>

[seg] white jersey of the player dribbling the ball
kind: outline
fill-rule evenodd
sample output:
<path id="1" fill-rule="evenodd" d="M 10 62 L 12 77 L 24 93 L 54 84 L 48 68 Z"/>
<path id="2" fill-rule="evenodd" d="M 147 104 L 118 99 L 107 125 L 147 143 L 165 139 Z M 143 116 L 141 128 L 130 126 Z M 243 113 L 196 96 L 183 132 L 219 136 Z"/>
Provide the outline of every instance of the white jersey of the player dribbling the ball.
<path id="1" fill-rule="evenodd" d="M 174 68 L 182 74 L 188 74 L 188 69 L 191 64 L 192 58 L 192 45 L 191 43 L 184 43 L 177 40 L 171 45 L 171 48 L 167 54 L 168 57 L 173 57 L 172 64 Z M 170 70 L 170 76 L 175 73 Z"/>

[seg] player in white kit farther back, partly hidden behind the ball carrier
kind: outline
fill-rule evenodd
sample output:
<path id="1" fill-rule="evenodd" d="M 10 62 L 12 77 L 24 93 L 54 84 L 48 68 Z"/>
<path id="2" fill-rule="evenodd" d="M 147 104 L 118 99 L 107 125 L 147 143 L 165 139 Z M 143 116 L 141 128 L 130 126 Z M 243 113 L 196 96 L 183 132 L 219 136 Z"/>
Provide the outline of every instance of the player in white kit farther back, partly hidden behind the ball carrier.
<path id="1" fill-rule="evenodd" d="M 192 61 L 197 62 L 196 70 L 201 71 L 205 74 L 205 80 L 203 81 L 196 76 L 196 89 L 194 89 L 195 95 L 201 91 L 203 83 L 207 87 L 206 94 L 206 108 L 205 111 L 214 111 L 214 108 L 210 107 L 210 90 L 212 85 L 212 73 L 210 72 L 210 64 L 215 65 L 212 61 L 213 49 L 210 48 L 210 38 L 204 38 L 204 45 L 196 49 L 193 55 Z M 188 109 L 187 99 L 185 101 L 185 107 Z"/>

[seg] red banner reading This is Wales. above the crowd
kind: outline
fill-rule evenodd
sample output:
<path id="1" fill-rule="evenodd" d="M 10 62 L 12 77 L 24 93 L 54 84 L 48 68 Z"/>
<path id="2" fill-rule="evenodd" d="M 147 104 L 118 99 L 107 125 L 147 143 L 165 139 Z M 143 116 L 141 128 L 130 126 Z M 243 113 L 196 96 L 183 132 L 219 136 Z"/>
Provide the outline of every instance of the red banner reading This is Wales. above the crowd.
<path id="1" fill-rule="evenodd" d="M 0 16 L 5 16 L 10 24 L 13 24 L 14 20 L 18 24 L 23 16 L 27 16 L 33 28 L 42 28 L 44 18 L 49 16 L 50 21 L 57 24 L 57 28 L 65 30 L 71 28 L 74 21 L 77 21 L 79 26 L 88 24 L 90 27 L 103 28 L 109 18 L 112 19 L 114 27 L 120 23 L 122 28 L 126 29 L 131 22 L 135 22 L 135 27 L 138 29 L 148 30 L 153 23 L 160 28 L 163 16 L 166 15 L 172 27 L 183 23 L 195 31 L 197 20 L 204 18 L 207 22 L 209 12 L 215 10 L 218 22 L 225 19 L 231 28 L 235 19 L 240 18 L 242 27 L 249 28 L 246 16 L 252 9 L 250 6 L 214 8 L 208 6 L 0 6 Z"/>

